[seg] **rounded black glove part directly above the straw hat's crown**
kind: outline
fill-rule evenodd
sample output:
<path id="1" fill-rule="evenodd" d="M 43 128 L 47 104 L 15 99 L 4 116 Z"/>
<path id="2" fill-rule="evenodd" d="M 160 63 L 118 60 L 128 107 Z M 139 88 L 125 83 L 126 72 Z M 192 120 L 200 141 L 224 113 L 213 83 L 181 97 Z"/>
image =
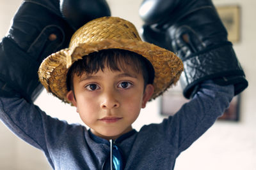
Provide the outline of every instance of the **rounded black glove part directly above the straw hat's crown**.
<path id="1" fill-rule="evenodd" d="M 105 0 L 60 0 L 60 10 L 74 29 L 95 18 L 111 15 Z"/>

